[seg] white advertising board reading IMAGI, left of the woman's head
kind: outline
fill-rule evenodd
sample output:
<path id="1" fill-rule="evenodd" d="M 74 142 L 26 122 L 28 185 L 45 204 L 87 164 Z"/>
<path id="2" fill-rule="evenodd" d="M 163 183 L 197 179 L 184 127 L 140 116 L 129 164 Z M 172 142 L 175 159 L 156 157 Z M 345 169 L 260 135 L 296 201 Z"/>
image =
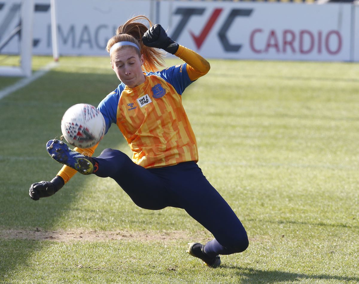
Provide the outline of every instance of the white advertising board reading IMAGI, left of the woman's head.
<path id="1" fill-rule="evenodd" d="M 50 1 L 35 0 L 34 54 L 52 54 Z M 107 56 L 107 40 L 136 15 L 152 16 L 147 0 L 61 0 L 56 3 L 60 55 Z"/>

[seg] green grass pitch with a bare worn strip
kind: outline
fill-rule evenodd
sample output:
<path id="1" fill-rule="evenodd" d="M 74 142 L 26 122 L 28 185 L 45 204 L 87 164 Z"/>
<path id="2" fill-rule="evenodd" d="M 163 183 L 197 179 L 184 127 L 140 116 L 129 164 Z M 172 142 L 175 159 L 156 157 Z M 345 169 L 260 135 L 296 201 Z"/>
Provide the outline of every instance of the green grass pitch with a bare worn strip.
<path id="1" fill-rule="evenodd" d="M 51 58 L 33 60 L 37 69 Z M 210 63 L 183 104 L 199 166 L 248 249 L 202 265 L 185 251 L 208 231 L 183 210 L 136 207 L 109 178 L 78 174 L 29 198 L 61 168 L 45 144 L 65 110 L 118 85 L 108 58 L 63 57 L 0 100 L 0 283 L 359 283 L 359 65 Z M 0 90 L 16 80 L 0 78 Z M 108 147 L 130 155 L 115 125 L 95 155 Z"/>

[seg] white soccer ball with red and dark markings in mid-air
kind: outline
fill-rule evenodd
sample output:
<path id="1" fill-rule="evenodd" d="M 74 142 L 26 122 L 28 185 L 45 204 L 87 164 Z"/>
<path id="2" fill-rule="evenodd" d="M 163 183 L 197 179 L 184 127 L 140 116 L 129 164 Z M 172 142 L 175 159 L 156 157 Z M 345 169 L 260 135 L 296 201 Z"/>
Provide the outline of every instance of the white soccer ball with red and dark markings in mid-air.
<path id="1" fill-rule="evenodd" d="M 94 106 L 77 104 L 71 106 L 62 117 L 61 131 L 69 144 L 89 148 L 103 138 L 106 123 L 101 112 Z"/>

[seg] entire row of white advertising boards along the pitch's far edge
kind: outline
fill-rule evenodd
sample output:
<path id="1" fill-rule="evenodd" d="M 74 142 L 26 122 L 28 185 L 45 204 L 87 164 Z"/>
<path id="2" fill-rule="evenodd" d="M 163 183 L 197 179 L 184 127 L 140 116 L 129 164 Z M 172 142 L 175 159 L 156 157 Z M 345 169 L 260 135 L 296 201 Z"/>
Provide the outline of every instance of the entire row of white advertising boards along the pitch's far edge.
<path id="1" fill-rule="evenodd" d="M 50 0 L 34 2 L 33 53 L 52 54 Z M 19 22 L 18 3 L 3 0 L 0 4 L 0 42 Z M 207 58 L 359 61 L 359 6 L 352 4 L 157 0 L 55 3 L 62 56 L 107 56 L 106 43 L 116 28 L 142 14 L 162 24 L 178 43 Z M 2 52 L 18 50 L 15 36 Z"/>

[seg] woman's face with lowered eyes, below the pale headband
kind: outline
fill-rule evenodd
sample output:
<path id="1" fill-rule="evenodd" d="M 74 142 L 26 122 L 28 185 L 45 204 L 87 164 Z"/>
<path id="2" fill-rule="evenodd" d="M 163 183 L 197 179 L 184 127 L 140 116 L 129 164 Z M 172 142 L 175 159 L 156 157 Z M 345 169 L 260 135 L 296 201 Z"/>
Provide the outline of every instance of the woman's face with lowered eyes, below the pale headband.
<path id="1" fill-rule="evenodd" d="M 138 55 L 134 47 L 121 48 L 111 54 L 112 69 L 126 86 L 134 88 L 145 82 L 142 72 L 143 54 Z"/>

